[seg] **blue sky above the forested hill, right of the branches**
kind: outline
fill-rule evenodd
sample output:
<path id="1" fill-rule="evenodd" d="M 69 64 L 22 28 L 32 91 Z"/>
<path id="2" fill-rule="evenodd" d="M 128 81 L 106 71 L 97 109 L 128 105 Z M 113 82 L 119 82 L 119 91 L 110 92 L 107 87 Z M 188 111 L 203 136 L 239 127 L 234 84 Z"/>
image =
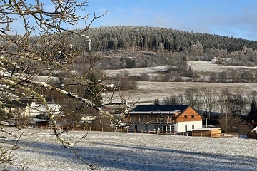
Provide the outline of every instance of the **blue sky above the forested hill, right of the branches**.
<path id="1" fill-rule="evenodd" d="M 257 41 L 257 0 L 89 0 L 92 25 L 153 26 Z"/>

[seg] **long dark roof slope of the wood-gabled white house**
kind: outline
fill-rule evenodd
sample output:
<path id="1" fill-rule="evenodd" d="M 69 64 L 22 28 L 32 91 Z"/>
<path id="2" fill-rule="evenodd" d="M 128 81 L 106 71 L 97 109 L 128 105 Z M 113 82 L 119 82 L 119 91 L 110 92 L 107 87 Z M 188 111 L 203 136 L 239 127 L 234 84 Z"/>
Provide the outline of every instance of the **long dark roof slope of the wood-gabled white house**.
<path id="1" fill-rule="evenodd" d="M 189 105 L 137 105 L 133 109 L 135 112 L 144 111 L 175 111 L 175 110 L 186 110 Z"/>

